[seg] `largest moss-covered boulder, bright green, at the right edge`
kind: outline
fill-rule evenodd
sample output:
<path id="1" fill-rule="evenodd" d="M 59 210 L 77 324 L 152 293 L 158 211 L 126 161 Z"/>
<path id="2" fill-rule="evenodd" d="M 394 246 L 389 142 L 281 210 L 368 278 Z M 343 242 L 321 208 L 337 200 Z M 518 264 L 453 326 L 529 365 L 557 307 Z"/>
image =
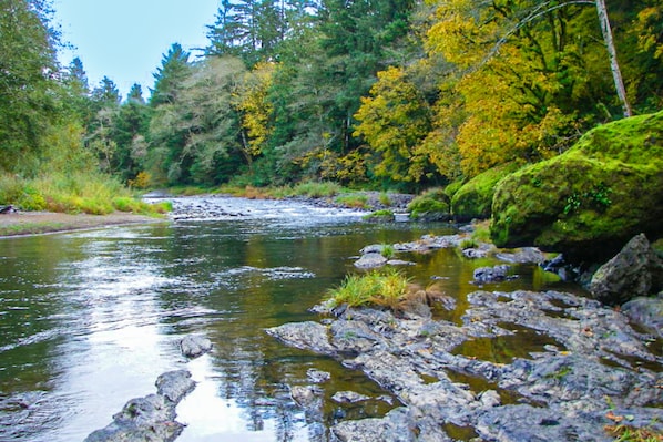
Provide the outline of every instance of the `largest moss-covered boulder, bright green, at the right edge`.
<path id="1" fill-rule="evenodd" d="M 564 154 L 499 182 L 491 237 L 571 259 L 611 258 L 636 234 L 663 235 L 663 112 L 588 132 Z"/>

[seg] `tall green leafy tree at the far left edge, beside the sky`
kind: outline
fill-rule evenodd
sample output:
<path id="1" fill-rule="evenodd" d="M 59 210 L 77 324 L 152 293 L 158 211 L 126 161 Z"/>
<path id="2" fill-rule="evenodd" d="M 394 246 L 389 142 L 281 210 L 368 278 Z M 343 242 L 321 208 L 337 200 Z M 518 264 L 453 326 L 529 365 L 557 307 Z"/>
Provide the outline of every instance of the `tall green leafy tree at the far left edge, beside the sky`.
<path id="1" fill-rule="evenodd" d="M 55 44 L 48 4 L 0 2 L 0 172 L 34 174 L 58 120 Z"/>

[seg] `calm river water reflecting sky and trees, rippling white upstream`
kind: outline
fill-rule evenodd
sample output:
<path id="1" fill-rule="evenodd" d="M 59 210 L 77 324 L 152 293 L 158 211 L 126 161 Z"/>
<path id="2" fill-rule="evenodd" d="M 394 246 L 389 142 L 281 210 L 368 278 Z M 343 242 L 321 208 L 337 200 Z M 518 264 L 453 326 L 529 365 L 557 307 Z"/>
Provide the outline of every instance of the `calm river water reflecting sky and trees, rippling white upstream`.
<path id="1" fill-rule="evenodd" d="M 397 404 L 339 362 L 287 348 L 264 329 L 316 320 L 308 311 L 354 269 L 369 244 L 450 234 L 445 224 L 369 224 L 360 213 L 294 202 L 175 199 L 187 219 L 0 239 L 0 440 L 81 441 L 159 374 L 187 369 L 197 388 L 178 405 L 178 441 L 326 441 L 341 419 Z M 412 279 L 457 298 L 458 321 L 476 267 L 456 250 L 399 255 Z M 532 266 L 496 290 L 555 288 Z M 214 349 L 188 361 L 178 341 Z M 328 371 L 325 398 L 353 390 L 373 400 L 325 401 L 305 413 L 289 395 L 307 370 Z"/>

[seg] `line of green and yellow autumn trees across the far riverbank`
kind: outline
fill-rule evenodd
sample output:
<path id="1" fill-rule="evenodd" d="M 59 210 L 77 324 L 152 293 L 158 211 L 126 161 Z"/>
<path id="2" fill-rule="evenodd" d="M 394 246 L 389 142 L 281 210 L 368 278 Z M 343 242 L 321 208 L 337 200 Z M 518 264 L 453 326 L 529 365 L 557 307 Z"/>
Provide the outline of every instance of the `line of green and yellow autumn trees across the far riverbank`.
<path id="1" fill-rule="evenodd" d="M 657 0 L 222 0 L 207 47 L 173 43 L 149 99 L 91 88 L 80 59 L 59 65 L 49 1 L 0 9 L 6 174 L 85 157 L 135 187 L 412 192 L 558 155 L 625 105 L 663 104 Z"/>

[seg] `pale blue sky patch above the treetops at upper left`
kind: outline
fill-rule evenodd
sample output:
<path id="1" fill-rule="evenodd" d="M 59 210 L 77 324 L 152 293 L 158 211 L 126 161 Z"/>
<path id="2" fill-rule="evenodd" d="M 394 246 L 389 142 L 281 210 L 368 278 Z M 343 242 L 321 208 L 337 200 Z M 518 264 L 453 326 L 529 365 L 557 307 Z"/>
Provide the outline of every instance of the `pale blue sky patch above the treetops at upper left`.
<path id="1" fill-rule="evenodd" d="M 106 75 L 122 97 L 133 83 L 143 96 L 154 85 L 152 73 L 172 43 L 185 50 L 207 45 L 205 25 L 214 24 L 220 0 L 53 0 L 55 22 L 72 51 L 60 55 L 63 65 L 74 56 L 83 62 L 90 88 Z"/>

